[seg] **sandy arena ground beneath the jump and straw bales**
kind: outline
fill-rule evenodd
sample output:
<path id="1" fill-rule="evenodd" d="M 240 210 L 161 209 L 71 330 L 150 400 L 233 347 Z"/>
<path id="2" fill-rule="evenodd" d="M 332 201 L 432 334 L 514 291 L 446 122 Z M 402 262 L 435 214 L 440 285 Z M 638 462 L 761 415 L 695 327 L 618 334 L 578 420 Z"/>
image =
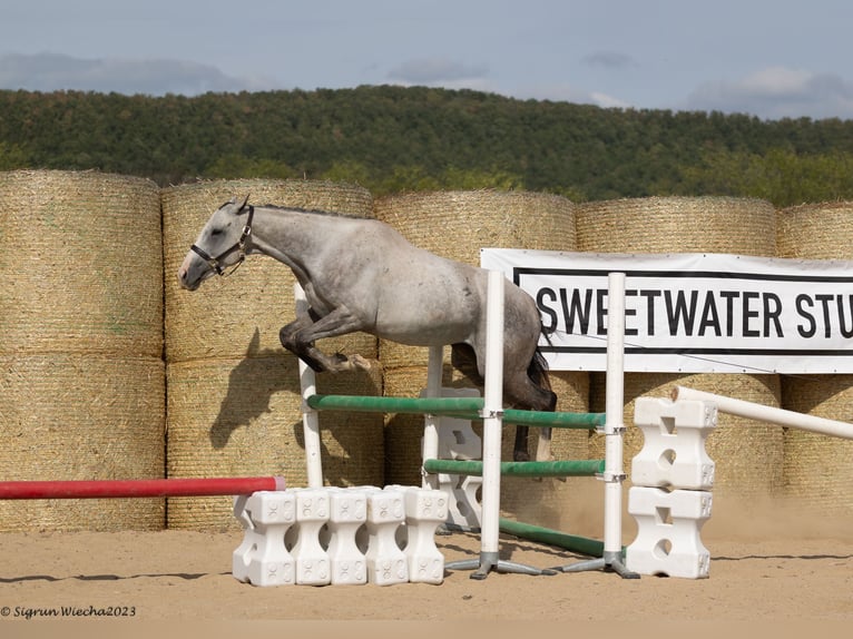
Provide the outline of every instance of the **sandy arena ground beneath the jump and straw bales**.
<path id="1" fill-rule="evenodd" d="M 638 623 L 673 629 L 682 623 L 702 628 L 759 622 L 787 631 L 798 625 L 810 632 L 820 627 L 823 635 L 835 628 L 837 636 L 850 636 L 844 627 L 853 622 L 853 518 L 849 517 L 818 520 L 796 510 L 755 507 L 729 509 L 723 515 L 715 512 L 702 533 L 712 553 L 710 577 L 702 580 L 621 580 L 596 571 L 555 577 L 492 572 L 477 581 L 469 572 L 448 571 L 441 586 L 257 588 L 231 574 L 232 552 L 241 539 L 239 532 L 187 531 L 0 534 L 0 633 L 18 636 L 17 631 L 31 631 L 46 621 L 67 625 L 69 618 L 42 617 L 42 611 L 60 607 L 111 607 L 126 616 L 97 623 L 112 631 L 115 622 L 138 621 L 216 627 L 246 620 L 392 620 L 463 627 L 475 622 L 478 628 L 492 622 L 501 630 L 510 623 L 522 631 L 530 621 L 568 621 L 580 628 L 625 623 L 626 629 Z M 479 553 L 475 535 L 438 539 L 447 561 Z M 502 537 L 501 552 L 539 568 L 579 559 L 512 537 Z M 513 623 L 518 621 L 526 623 Z M 416 635 L 411 630 L 409 637 Z"/>

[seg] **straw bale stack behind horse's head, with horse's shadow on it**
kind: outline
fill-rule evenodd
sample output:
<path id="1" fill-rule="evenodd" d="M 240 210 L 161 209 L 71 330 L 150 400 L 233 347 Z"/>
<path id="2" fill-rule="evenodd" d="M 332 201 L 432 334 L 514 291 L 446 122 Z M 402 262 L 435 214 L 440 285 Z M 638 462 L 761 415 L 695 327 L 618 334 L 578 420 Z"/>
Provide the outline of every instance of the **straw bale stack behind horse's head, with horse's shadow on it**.
<path id="1" fill-rule="evenodd" d="M 278 331 L 294 318 L 291 271 L 251 256 L 233 276 L 182 289 L 177 271 L 213 212 L 232 197 L 369 217 L 371 195 L 355 186 L 308 180 L 227 180 L 164 189 L 168 475 L 284 475 L 306 485 L 297 360 Z M 256 229 L 257 232 L 257 229 Z M 376 358 L 376 340 L 350 334 L 320 342 L 329 352 Z M 321 393 L 375 395 L 381 373 L 322 374 Z M 332 485 L 380 484 L 382 415 L 323 413 L 323 470 Z M 175 499 L 168 525 L 235 528 L 231 499 Z"/>

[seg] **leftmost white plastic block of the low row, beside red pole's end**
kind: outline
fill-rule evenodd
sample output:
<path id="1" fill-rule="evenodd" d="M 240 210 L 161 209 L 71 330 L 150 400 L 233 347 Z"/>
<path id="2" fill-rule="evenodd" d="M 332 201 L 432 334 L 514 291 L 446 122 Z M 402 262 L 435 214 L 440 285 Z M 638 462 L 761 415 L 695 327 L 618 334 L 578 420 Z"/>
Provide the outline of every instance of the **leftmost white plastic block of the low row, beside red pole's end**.
<path id="1" fill-rule="evenodd" d="M 296 500 L 292 492 L 263 491 L 234 500 L 234 514 L 244 528 L 243 542 L 232 557 L 232 572 L 254 586 L 282 586 L 295 582 L 295 559 L 284 538 L 296 522 Z"/>

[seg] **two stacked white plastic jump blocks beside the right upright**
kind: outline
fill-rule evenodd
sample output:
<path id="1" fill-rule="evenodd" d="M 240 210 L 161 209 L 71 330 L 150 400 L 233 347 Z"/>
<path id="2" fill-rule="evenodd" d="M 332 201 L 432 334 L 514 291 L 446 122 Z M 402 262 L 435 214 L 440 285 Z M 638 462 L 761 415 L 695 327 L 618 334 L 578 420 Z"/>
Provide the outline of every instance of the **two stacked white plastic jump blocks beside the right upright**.
<path id="1" fill-rule="evenodd" d="M 707 578 L 710 553 L 699 532 L 710 518 L 714 462 L 705 441 L 717 425 L 716 405 L 639 397 L 634 423 L 644 446 L 631 462 L 628 513 L 638 530 L 626 564 L 640 574 Z"/>

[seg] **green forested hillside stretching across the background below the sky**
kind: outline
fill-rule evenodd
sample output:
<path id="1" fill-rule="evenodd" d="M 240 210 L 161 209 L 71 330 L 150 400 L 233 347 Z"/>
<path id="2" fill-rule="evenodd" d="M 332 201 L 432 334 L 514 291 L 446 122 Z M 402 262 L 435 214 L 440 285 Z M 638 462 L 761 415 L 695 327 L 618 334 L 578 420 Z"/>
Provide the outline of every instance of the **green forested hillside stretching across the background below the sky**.
<path id="1" fill-rule="evenodd" d="M 527 189 L 575 201 L 853 199 L 853 121 L 602 109 L 470 90 L 124 96 L 0 91 L 0 170 L 98 169 L 159 185 L 308 178 L 374 195 Z"/>

